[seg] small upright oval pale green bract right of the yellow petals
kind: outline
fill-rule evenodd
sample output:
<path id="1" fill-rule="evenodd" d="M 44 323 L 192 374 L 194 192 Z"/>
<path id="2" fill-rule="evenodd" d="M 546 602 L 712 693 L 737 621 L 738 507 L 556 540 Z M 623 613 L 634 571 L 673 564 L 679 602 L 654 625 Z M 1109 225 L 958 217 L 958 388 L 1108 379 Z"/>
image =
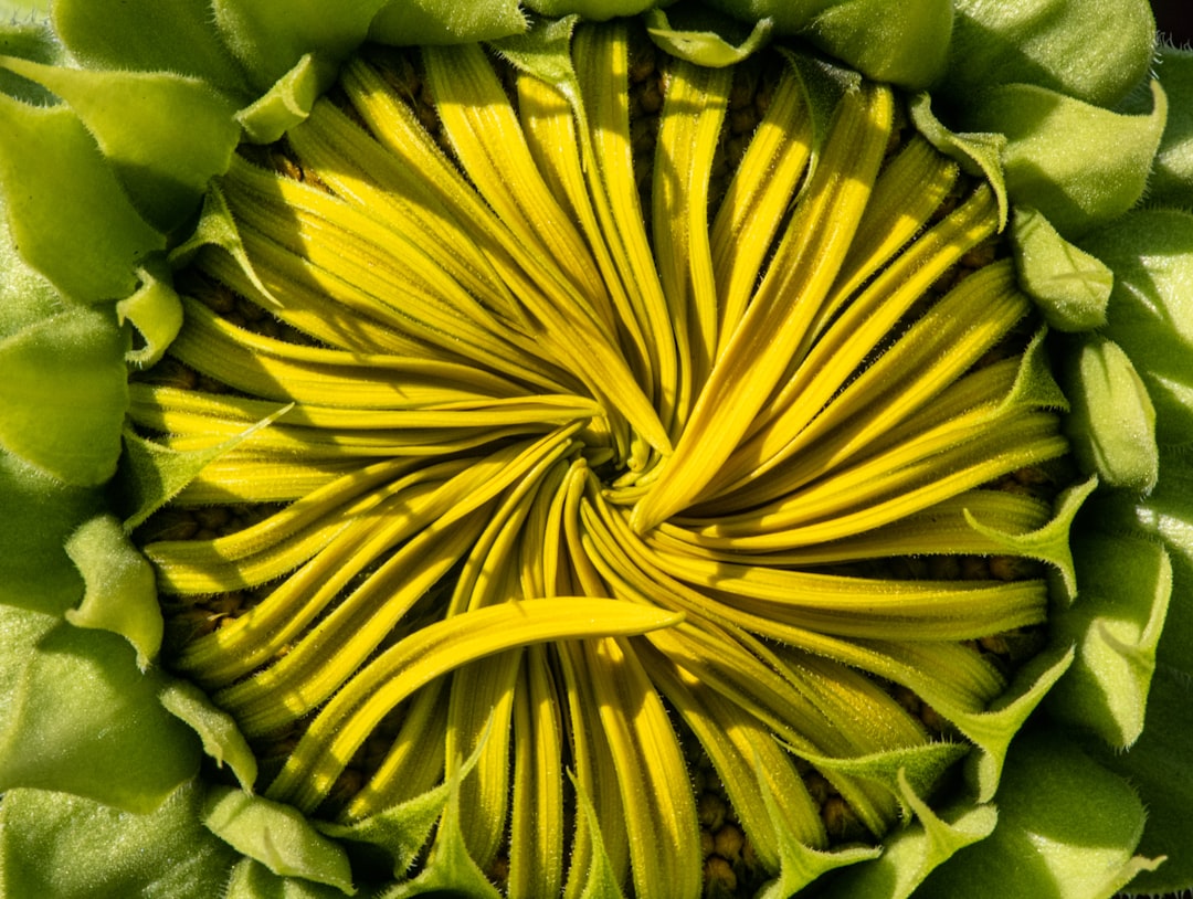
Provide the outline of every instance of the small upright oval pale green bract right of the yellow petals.
<path id="1" fill-rule="evenodd" d="M 1160 475 L 1156 413 L 1117 343 L 1086 336 L 1061 371 L 1071 409 L 1064 430 L 1082 471 L 1108 486 L 1146 492 Z"/>

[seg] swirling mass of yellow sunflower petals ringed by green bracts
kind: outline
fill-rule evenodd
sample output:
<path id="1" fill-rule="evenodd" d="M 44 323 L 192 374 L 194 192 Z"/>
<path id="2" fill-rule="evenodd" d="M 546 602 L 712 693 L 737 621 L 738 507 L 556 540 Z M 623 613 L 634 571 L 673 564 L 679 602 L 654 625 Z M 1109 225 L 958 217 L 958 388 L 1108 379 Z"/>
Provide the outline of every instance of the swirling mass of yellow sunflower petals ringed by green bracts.
<path id="1" fill-rule="evenodd" d="M 266 796 L 455 785 L 434 839 L 511 894 L 746 886 L 982 745 L 1058 398 L 993 192 L 891 91 L 617 25 L 570 62 L 359 57 L 242 149 L 132 385 L 197 472 L 138 539 Z"/>

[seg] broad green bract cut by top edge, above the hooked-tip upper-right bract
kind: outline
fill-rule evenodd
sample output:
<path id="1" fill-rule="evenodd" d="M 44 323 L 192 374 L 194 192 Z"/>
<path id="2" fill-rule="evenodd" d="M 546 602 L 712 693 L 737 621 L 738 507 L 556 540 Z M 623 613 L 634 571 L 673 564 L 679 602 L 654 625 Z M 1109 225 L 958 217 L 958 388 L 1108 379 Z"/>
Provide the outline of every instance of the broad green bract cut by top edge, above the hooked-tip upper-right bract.
<path id="1" fill-rule="evenodd" d="M 938 91 L 958 104 L 1028 83 L 1113 106 L 1151 66 L 1156 24 L 1143 0 L 958 0 L 956 8 Z"/>

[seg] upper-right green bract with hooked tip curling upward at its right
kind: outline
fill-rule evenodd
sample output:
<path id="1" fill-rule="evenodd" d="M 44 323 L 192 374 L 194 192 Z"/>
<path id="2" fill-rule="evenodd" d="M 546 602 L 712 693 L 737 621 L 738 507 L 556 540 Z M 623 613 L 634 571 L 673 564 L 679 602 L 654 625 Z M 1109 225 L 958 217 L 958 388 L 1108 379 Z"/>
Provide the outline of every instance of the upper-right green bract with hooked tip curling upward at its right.
<path id="1" fill-rule="evenodd" d="M 1152 101 L 1150 114 L 1124 116 L 1034 85 L 1005 85 L 966 106 L 960 122 L 1006 135 L 1012 200 L 1077 236 L 1143 196 L 1168 111 L 1160 82 L 1152 82 Z"/>

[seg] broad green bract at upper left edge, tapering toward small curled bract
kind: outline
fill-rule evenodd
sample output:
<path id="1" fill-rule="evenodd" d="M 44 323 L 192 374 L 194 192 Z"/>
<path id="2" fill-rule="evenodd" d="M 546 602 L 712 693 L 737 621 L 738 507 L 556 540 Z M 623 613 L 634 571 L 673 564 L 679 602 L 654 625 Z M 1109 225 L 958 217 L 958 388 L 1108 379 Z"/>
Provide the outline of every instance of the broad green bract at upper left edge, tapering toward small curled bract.
<path id="1" fill-rule="evenodd" d="M 0 186 L 25 260 L 72 299 L 131 293 L 137 265 L 166 238 L 137 215 L 79 117 L 0 95 Z"/>

